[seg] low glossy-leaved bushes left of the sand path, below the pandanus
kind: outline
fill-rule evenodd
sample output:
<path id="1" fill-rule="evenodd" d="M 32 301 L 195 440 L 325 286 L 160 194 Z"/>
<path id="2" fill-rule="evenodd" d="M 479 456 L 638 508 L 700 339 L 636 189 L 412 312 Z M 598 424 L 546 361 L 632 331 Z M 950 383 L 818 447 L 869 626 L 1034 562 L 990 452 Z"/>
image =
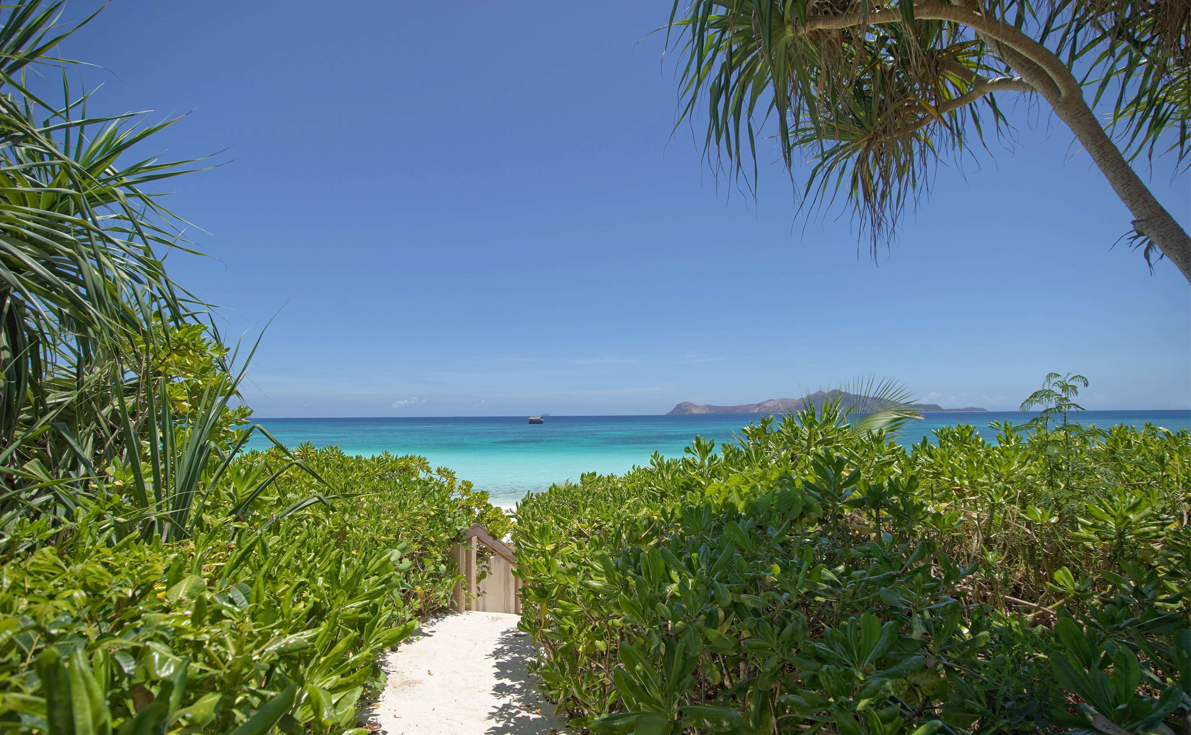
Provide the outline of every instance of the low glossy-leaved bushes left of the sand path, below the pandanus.
<path id="1" fill-rule="evenodd" d="M 288 462 L 273 449 L 232 465 L 185 542 L 116 541 L 114 486 L 68 535 L 46 519 L 11 527 L 0 723 L 54 735 L 353 730 L 378 655 L 449 603 L 449 546 L 500 511 L 420 457 L 304 456 L 353 492 L 279 517 L 314 480 L 281 475 L 261 491 L 258 478 Z"/>

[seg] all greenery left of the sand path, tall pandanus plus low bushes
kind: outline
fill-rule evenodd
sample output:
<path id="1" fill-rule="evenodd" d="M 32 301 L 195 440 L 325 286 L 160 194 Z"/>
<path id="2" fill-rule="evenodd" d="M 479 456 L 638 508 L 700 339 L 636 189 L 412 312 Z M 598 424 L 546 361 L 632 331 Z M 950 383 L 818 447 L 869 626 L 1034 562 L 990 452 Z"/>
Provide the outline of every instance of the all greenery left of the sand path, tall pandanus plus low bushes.
<path id="1" fill-rule="evenodd" d="M 169 122 L 88 117 L 60 10 L 0 8 L 0 725 L 350 731 L 445 606 L 449 544 L 504 516 L 418 457 L 243 451 L 236 351 L 142 188 L 187 162 L 143 151 Z M 61 101 L 26 86 L 44 62 Z"/>

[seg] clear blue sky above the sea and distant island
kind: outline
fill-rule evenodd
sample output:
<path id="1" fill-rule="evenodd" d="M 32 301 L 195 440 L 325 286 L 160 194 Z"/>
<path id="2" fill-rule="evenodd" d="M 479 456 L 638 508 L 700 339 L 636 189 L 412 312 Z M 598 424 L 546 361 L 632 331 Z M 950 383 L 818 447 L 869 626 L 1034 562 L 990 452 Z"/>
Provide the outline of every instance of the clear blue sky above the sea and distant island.
<path id="1" fill-rule="evenodd" d="M 91 112 L 189 113 L 155 145 L 226 162 L 170 183 L 214 256 L 172 273 L 233 337 L 273 318 L 262 417 L 661 413 L 861 374 L 1006 410 L 1049 370 L 1089 409 L 1191 406 L 1191 289 L 1110 249 L 1129 214 L 1059 124 L 1018 110 L 873 263 L 846 216 L 793 219 L 777 163 L 754 200 L 671 136 L 668 12 L 114 0 L 63 54 L 104 67 Z"/>

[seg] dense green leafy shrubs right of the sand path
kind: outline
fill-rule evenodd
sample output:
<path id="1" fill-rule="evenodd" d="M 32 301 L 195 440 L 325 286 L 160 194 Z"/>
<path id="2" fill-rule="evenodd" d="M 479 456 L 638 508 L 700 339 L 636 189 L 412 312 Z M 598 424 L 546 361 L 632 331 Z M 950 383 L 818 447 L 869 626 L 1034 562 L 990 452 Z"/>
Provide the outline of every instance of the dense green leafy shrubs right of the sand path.
<path id="1" fill-rule="evenodd" d="M 1184 731 L 1191 438 L 1068 422 L 1067 378 L 997 443 L 828 405 L 530 496 L 543 686 L 597 733 Z"/>

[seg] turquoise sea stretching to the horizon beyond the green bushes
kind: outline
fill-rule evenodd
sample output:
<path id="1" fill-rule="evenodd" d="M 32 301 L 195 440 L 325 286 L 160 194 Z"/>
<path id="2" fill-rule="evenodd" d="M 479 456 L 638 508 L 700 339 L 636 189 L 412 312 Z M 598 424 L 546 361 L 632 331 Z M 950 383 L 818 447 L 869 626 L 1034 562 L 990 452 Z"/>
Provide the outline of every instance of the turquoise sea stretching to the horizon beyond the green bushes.
<path id="1" fill-rule="evenodd" d="M 1033 415 L 1017 411 L 927 413 L 898 440 L 916 443 L 946 425 L 972 424 L 987 441 L 996 441 L 992 421 L 1022 423 Z M 348 454 L 417 454 L 434 467 L 450 467 L 460 480 L 486 490 L 492 502 L 511 506 L 526 492 L 553 482 L 578 481 L 585 472 L 621 473 L 648 465 L 656 450 L 681 456 L 696 435 L 730 442 L 755 416 L 550 416 L 530 424 L 524 416 L 455 418 L 257 418 L 287 447 L 312 442 L 338 446 Z M 1191 411 L 1084 411 L 1084 424 L 1109 426 L 1153 423 L 1177 431 L 1191 429 Z M 267 438 L 254 435 L 250 447 L 264 449 Z"/>

